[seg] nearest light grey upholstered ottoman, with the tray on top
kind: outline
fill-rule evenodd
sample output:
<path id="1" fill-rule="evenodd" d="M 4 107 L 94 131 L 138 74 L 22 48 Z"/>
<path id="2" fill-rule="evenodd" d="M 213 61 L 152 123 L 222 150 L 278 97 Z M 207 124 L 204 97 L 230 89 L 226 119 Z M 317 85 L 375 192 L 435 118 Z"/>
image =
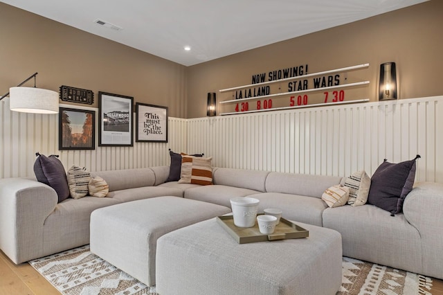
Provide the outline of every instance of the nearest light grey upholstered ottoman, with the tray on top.
<path id="1" fill-rule="evenodd" d="M 237 244 L 214 219 L 157 241 L 156 292 L 170 294 L 336 294 L 341 235 L 298 223 L 309 238 Z"/>

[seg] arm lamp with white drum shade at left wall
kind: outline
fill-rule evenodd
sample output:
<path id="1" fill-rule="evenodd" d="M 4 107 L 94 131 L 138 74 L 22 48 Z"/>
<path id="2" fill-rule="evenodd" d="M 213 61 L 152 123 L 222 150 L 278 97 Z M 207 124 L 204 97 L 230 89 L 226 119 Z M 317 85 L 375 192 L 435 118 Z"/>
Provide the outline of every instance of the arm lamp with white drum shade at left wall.
<path id="1" fill-rule="evenodd" d="M 10 87 L 9 92 L 1 96 L 0 100 L 9 95 L 10 110 L 34 114 L 58 114 L 58 93 L 52 90 L 35 87 L 35 76 L 31 75 L 17 87 Z M 34 78 L 34 87 L 21 85 Z"/>

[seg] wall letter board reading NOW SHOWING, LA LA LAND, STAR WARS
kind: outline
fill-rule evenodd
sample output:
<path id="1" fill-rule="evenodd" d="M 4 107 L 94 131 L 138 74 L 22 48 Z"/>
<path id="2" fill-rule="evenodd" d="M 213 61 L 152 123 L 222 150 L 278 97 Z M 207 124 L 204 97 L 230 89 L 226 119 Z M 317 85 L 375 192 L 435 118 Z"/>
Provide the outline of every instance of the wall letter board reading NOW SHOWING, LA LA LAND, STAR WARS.
<path id="1" fill-rule="evenodd" d="M 369 101 L 369 98 L 355 98 L 367 95 L 370 81 L 361 80 L 360 74 L 352 74 L 368 66 L 367 63 L 356 64 L 308 73 L 308 64 L 300 64 L 257 73 L 252 75 L 252 84 L 219 90 L 222 93 L 231 92 L 233 98 L 219 102 L 220 106 L 226 105 L 223 107 L 226 112 L 221 111 L 220 115 Z"/>

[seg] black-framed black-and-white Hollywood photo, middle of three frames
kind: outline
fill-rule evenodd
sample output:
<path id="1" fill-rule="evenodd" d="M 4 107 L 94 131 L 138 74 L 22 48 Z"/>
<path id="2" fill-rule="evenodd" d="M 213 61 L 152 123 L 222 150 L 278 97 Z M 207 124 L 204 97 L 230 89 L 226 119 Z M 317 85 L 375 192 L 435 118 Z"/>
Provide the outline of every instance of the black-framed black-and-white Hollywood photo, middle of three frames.
<path id="1" fill-rule="evenodd" d="M 134 98 L 98 92 L 98 145 L 132 147 Z"/>

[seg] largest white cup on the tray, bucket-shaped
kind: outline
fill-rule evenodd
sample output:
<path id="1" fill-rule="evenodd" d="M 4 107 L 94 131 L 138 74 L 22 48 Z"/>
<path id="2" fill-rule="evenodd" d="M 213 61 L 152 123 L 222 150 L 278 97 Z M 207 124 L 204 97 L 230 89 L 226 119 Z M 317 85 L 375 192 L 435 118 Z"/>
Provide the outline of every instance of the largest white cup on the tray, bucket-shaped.
<path id="1" fill-rule="evenodd" d="M 253 227 L 257 217 L 260 200 L 252 197 L 235 197 L 230 199 L 230 208 L 233 209 L 234 225 L 238 227 Z"/>

